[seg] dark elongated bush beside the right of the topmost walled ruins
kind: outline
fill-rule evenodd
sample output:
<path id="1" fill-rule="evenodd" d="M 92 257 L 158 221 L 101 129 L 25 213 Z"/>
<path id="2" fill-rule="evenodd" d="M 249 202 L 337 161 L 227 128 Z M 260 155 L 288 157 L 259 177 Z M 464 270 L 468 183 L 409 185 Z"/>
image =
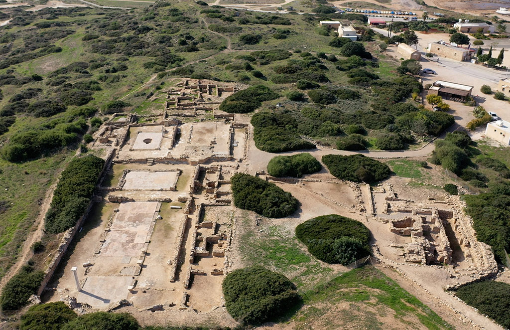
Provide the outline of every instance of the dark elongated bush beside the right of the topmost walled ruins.
<path id="1" fill-rule="evenodd" d="M 227 97 L 221 102 L 219 109 L 228 113 L 246 113 L 259 108 L 262 102 L 276 98 L 278 98 L 278 94 L 268 87 L 256 85 Z"/>

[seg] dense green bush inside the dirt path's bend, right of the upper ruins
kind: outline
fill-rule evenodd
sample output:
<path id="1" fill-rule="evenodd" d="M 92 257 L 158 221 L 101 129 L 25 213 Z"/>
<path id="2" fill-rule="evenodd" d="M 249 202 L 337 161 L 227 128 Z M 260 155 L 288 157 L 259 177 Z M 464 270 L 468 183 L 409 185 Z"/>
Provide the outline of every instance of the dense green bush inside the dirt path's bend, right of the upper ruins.
<path id="1" fill-rule="evenodd" d="M 267 152 L 314 149 L 315 145 L 302 139 L 297 121 L 289 114 L 259 112 L 251 117 L 255 146 Z"/>

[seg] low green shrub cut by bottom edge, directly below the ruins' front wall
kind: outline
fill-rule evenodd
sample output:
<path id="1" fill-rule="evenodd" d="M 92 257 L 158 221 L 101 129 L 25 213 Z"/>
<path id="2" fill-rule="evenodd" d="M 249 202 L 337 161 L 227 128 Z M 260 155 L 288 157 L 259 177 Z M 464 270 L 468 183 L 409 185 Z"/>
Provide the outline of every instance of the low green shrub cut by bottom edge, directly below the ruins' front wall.
<path id="1" fill-rule="evenodd" d="M 141 330 L 138 321 L 127 313 L 94 312 L 67 322 L 62 330 Z"/>

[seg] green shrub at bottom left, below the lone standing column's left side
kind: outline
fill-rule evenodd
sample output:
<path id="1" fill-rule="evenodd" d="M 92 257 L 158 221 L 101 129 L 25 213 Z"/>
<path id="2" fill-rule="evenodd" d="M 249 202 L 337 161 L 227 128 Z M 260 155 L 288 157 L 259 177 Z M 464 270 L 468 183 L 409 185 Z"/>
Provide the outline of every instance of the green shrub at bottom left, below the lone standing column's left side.
<path id="1" fill-rule="evenodd" d="M 62 301 L 33 305 L 21 316 L 19 330 L 60 330 L 77 316 Z"/>

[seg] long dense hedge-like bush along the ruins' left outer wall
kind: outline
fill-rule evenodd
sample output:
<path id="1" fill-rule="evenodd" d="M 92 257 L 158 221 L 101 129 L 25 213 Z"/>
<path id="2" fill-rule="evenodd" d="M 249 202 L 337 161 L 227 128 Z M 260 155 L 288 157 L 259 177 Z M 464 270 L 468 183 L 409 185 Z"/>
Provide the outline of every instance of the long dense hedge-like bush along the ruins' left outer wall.
<path id="1" fill-rule="evenodd" d="M 59 233 L 75 225 L 92 197 L 105 161 L 93 155 L 74 158 L 62 172 L 45 218 L 45 228 Z"/>

